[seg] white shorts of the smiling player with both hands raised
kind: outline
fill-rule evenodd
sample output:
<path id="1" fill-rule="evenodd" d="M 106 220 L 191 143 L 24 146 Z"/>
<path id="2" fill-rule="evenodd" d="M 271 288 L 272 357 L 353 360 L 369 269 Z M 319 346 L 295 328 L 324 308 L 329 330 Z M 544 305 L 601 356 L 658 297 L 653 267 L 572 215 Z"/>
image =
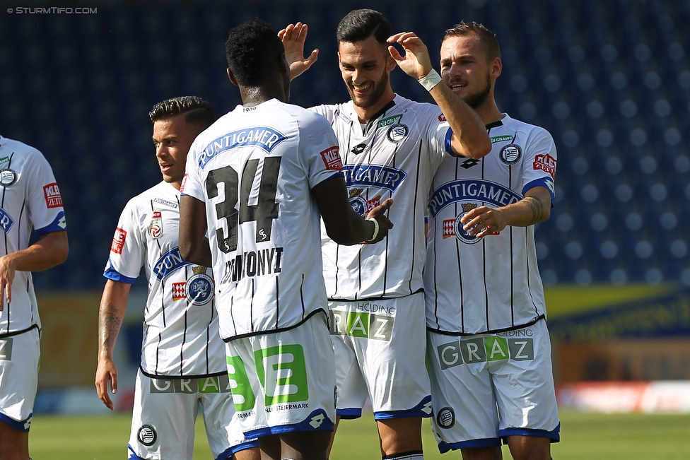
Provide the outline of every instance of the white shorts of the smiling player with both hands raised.
<path id="1" fill-rule="evenodd" d="M 361 417 L 368 397 L 375 420 L 431 416 L 424 309 L 423 293 L 329 302 L 341 418 Z"/>

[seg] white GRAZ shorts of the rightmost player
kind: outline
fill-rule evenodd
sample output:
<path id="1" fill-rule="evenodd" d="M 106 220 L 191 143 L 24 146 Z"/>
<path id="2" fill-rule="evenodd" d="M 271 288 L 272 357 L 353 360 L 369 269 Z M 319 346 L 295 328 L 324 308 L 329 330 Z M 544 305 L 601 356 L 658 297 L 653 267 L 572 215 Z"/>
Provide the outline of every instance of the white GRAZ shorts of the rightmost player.
<path id="1" fill-rule="evenodd" d="M 546 321 L 496 334 L 428 331 L 431 421 L 441 453 L 505 437 L 560 439 Z"/>

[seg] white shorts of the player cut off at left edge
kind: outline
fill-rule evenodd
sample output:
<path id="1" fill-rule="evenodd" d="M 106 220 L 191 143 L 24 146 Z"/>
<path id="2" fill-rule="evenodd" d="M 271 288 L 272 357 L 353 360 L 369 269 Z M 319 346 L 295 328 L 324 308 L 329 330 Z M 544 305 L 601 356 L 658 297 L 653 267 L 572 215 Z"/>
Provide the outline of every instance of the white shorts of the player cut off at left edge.
<path id="1" fill-rule="evenodd" d="M 0 422 L 28 432 L 38 388 L 38 328 L 0 338 Z"/>

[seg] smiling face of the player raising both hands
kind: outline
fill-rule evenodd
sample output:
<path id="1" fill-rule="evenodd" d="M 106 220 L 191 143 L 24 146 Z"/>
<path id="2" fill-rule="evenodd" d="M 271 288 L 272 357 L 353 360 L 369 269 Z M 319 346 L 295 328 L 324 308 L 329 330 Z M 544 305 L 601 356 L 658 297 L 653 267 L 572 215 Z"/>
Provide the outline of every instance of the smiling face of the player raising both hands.
<path id="1" fill-rule="evenodd" d="M 372 37 L 340 42 L 338 60 L 343 80 L 361 121 L 381 110 L 394 97 L 389 73 L 395 68 L 387 46 Z"/>

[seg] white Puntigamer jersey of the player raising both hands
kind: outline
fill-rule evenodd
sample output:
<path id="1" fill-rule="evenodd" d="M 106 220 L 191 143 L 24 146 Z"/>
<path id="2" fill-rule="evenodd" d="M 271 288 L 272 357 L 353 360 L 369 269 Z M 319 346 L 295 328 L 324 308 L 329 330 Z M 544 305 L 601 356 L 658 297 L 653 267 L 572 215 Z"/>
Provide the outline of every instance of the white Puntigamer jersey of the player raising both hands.
<path id="1" fill-rule="evenodd" d="M 350 204 L 364 216 L 388 198 L 393 223 L 377 244 L 343 246 L 322 230 L 326 292 L 334 300 L 402 297 L 423 289 L 424 214 L 452 131 L 438 106 L 396 95 L 366 126 L 352 101 L 312 107 L 333 126 Z"/>

